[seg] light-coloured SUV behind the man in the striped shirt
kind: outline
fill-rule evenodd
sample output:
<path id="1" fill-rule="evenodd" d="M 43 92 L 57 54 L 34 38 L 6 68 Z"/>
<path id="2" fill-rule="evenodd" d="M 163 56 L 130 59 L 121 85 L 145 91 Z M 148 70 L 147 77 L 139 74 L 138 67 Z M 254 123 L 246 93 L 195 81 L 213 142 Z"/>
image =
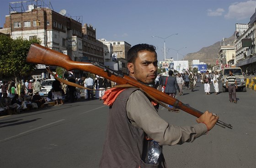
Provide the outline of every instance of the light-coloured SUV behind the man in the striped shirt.
<path id="1" fill-rule="evenodd" d="M 236 77 L 236 83 L 238 89 L 241 89 L 243 92 L 246 92 L 246 85 L 245 85 L 245 77 L 242 73 L 242 69 L 239 67 L 231 67 L 231 68 L 224 68 L 222 72 L 222 92 L 226 92 L 228 89 L 226 89 L 226 81 L 227 76 L 229 75 L 229 70 L 233 71 L 233 75 Z"/>

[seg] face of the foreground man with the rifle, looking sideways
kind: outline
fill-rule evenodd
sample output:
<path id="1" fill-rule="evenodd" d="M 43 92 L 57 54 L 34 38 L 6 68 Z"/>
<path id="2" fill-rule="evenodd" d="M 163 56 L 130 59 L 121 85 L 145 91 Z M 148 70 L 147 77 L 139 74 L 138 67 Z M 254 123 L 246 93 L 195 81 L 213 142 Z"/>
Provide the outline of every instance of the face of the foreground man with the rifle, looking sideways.
<path id="1" fill-rule="evenodd" d="M 140 51 L 134 63 L 128 63 L 129 76 L 144 84 L 154 84 L 157 74 L 157 57 L 155 52 Z"/>

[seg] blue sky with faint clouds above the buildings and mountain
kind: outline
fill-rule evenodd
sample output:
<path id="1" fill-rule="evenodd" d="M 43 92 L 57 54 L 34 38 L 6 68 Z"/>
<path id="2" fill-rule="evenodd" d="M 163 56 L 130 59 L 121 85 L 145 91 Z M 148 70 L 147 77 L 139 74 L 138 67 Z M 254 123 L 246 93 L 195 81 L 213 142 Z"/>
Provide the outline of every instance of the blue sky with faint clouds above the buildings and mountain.
<path id="1" fill-rule="evenodd" d="M 9 15 L 10 2 L 18 1 L 0 0 L 0 27 Z M 96 29 L 96 39 L 125 41 L 132 46 L 152 44 L 159 61 L 164 60 L 164 44 L 165 58 L 182 60 L 188 53 L 231 37 L 235 24 L 249 23 L 256 11 L 256 0 L 39 1 L 51 4 L 56 12 L 66 10 L 66 16 L 82 16 L 82 24 Z"/>

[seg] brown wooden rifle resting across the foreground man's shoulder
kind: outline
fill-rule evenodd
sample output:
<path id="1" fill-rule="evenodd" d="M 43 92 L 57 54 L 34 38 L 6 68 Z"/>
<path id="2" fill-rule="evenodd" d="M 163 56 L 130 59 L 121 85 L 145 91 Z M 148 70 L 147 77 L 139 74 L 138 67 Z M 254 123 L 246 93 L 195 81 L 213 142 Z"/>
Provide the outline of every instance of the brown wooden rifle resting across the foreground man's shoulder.
<path id="1" fill-rule="evenodd" d="M 83 71 L 94 73 L 99 76 L 102 76 L 103 78 L 112 80 L 118 84 L 130 84 L 137 88 L 141 88 L 142 90 L 147 92 L 149 95 L 153 96 L 155 99 L 161 102 L 164 102 L 168 105 L 172 105 L 175 108 L 179 108 L 183 111 L 186 111 L 187 113 L 194 115 L 197 118 L 203 114 L 203 112 L 193 109 L 192 107 L 183 104 L 181 101 L 175 98 L 172 98 L 169 95 L 155 88 L 139 83 L 137 80 L 129 77 L 128 75 L 124 75 L 123 73 L 118 73 L 116 71 L 113 71 L 107 67 L 104 67 L 104 65 L 101 65 L 99 63 L 92 64 L 92 63 L 73 61 L 69 58 L 68 55 L 59 53 L 47 47 L 43 47 L 39 44 L 31 45 L 29 52 L 27 54 L 26 61 L 29 63 L 59 66 L 59 67 L 65 68 L 68 71 L 73 69 L 80 69 Z M 222 121 L 217 121 L 217 125 L 222 126 L 224 128 L 225 127 L 228 127 L 230 129 L 233 128 L 230 124 L 226 124 Z"/>

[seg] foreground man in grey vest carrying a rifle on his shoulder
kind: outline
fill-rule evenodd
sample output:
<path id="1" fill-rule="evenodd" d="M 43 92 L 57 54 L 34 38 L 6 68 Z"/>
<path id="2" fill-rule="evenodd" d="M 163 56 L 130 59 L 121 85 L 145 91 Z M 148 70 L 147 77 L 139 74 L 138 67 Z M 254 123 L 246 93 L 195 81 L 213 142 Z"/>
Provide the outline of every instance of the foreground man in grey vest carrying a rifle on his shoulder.
<path id="1" fill-rule="evenodd" d="M 157 74 L 155 47 L 138 44 L 128 51 L 129 76 L 140 83 L 154 84 Z M 155 102 L 138 88 L 114 88 L 105 92 L 109 105 L 106 140 L 100 168 L 165 168 L 163 153 L 150 162 L 149 146 L 193 142 L 210 131 L 219 116 L 206 111 L 192 126 L 173 126 L 157 113 Z M 154 165 L 155 164 L 155 165 Z"/>

